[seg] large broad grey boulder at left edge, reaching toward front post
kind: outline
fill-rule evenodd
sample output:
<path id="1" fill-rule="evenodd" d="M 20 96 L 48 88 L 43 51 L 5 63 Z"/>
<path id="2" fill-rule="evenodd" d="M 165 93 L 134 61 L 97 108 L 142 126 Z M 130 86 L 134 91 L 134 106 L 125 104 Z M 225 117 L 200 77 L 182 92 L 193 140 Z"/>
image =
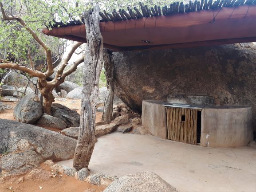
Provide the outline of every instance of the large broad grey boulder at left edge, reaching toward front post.
<path id="1" fill-rule="evenodd" d="M 0 119 L 0 152 L 35 150 L 44 161 L 61 161 L 74 155 L 76 140 L 62 134 L 16 121 Z"/>

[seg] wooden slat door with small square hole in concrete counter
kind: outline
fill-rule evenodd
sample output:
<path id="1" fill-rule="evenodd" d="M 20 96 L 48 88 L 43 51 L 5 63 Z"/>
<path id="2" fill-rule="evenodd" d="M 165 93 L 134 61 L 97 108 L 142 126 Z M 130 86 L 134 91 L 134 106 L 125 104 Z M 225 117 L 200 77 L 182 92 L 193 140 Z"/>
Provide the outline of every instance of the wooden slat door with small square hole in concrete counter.
<path id="1" fill-rule="evenodd" d="M 197 145 L 197 109 L 166 107 L 168 139 Z"/>

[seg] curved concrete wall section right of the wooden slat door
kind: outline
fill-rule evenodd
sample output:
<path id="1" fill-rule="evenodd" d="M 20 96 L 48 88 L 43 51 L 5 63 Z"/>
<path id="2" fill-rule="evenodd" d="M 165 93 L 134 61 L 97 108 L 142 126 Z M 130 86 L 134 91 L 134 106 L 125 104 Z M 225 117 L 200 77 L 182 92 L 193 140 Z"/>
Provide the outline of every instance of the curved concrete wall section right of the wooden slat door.
<path id="1" fill-rule="evenodd" d="M 252 108 L 205 108 L 201 146 L 240 147 L 252 141 Z"/>

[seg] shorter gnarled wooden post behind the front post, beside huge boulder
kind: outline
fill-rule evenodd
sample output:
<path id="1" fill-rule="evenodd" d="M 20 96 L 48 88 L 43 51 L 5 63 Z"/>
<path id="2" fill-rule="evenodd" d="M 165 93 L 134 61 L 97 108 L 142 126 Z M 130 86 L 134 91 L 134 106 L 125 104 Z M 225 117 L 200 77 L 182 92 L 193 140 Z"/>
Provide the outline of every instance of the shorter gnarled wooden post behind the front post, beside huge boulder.
<path id="1" fill-rule="evenodd" d="M 102 121 L 110 123 L 113 112 L 114 100 L 114 60 L 107 49 L 103 52 L 103 62 L 106 75 L 106 98 L 102 114 Z"/>

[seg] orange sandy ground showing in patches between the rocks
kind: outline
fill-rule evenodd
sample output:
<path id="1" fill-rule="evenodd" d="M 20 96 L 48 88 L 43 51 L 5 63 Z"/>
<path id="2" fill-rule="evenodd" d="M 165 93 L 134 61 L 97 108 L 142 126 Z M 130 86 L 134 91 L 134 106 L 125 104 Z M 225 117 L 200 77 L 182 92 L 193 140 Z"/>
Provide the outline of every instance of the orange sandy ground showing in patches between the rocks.
<path id="1" fill-rule="evenodd" d="M 5 105 L 13 106 L 15 107 L 17 102 L 6 102 L 1 101 Z M 80 100 L 65 100 L 62 101 L 62 99 L 56 99 L 56 103 L 61 103 L 64 106 L 69 107 L 72 110 L 76 110 L 80 114 Z M 97 113 L 96 115 L 96 122 L 101 121 L 102 113 Z M 10 110 L 4 110 L 4 113 L 0 114 L 0 118 L 2 119 L 9 119 L 9 120 L 15 120 L 13 118 L 13 109 Z M 44 127 L 46 129 L 50 129 L 56 132 L 59 132 L 59 129 L 55 128 L 48 128 Z M 72 165 L 71 165 L 72 167 Z M 43 167 L 45 168 L 45 167 Z M 39 189 L 39 186 L 42 187 L 42 189 Z M 12 190 L 10 190 L 10 187 L 12 187 Z M 24 180 L 23 183 L 16 184 L 7 182 L 5 184 L 0 184 L 0 192 L 102 192 L 104 190 L 104 186 L 98 187 L 95 185 L 91 185 L 87 182 L 81 182 L 79 180 L 76 180 L 75 178 L 69 177 L 64 175 L 63 177 L 55 177 L 51 178 L 47 181 L 28 181 Z"/>

